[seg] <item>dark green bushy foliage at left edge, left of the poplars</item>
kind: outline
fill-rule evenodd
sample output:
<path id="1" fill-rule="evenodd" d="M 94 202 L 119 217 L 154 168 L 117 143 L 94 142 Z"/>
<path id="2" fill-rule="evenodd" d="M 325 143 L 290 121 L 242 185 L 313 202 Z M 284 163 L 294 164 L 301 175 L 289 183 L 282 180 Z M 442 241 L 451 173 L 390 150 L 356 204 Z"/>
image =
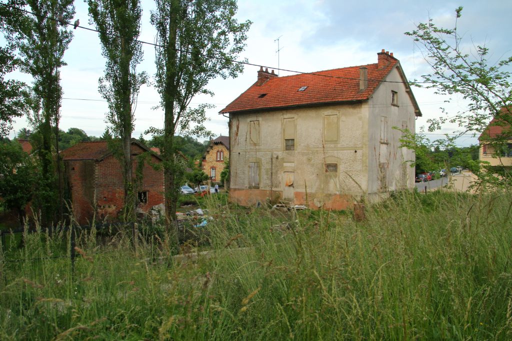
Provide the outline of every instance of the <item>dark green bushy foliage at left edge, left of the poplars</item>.
<path id="1" fill-rule="evenodd" d="M 6 211 L 14 210 L 24 216 L 26 204 L 31 200 L 35 166 L 17 141 L 0 141 L 0 203 Z"/>

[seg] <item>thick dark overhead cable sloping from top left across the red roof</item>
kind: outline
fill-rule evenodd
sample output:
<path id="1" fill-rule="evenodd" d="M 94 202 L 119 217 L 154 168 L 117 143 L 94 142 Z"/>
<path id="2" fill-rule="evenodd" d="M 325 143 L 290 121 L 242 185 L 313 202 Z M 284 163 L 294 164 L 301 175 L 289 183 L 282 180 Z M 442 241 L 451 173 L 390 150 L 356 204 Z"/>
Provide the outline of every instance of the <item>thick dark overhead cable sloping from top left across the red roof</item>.
<path id="1" fill-rule="evenodd" d="M 25 9 L 21 9 L 21 8 L 12 6 L 12 5 L 7 5 L 7 4 L 2 4 L 2 5 L 7 6 L 7 7 L 11 7 L 11 8 L 13 8 L 15 10 L 18 10 L 18 11 L 22 11 L 22 12 L 25 12 L 25 13 L 28 13 L 28 14 L 32 14 L 32 15 L 37 16 L 37 17 L 42 17 L 42 18 L 46 18 L 46 19 L 50 19 L 50 20 L 61 22 L 58 19 L 55 19 L 55 18 L 52 18 L 52 17 L 48 17 L 48 16 L 45 16 L 45 15 L 41 15 L 41 14 L 35 14 L 35 13 L 31 12 L 31 11 L 27 11 Z M 66 21 L 65 24 L 69 25 L 69 26 L 73 26 L 75 28 L 74 24 L 71 24 L 70 22 Z M 84 27 L 84 26 L 76 26 L 76 27 L 80 28 L 80 29 L 83 29 L 83 30 L 88 30 L 88 31 L 93 31 L 93 32 L 100 33 L 98 30 L 91 29 L 91 28 L 88 28 L 88 27 Z M 107 34 L 109 34 L 111 36 L 114 36 L 114 37 L 117 37 L 116 35 L 111 34 L 111 33 L 107 33 Z M 156 43 L 153 43 L 153 42 L 147 42 L 147 41 L 143 41 L 143 40 L 139 40 L 139 39 L 135 39 L 135 40 L 140 42 L 140 43 L 142 43 L 142 44 L 147 44 L 147 45 L 151 45 L 151 46 L 158 47 L 158 48 L 165 48 L 164 46 L 161 46 L 160 44 L 156 44 Z M 187 50 L 182 50 L 182 49 L 177 49 L 177 48 L 175 48 L 175 50 L 179 51 L 181 53 L 190 54 L 190 51 L 187 51 Z M 319 76 L 319 77 L 346 79 L 346 80 L 356 80 L 356 81 L 361 80 L 360 78 L 342 77 L 342 76 L 331 76 L 331 75 L 318 74 L 318 73 L 314 73 L 314 72 L 302 72 L 302 71 L 295 71 L 295 70 L 288 70 L 288 69 L 280 69 L 280 67 L 265 66 L 265 65 L 260 65 L 260 64 L 249 63 L 249 62 L 246 62 L 246 61 L 228 59 L 228 58 L 224 58 L 224 57 L 207 56 L 205 54 L 201 54 L 201 55 L 203 57 L 206 57 L 207 59 L 208 58 L 212 58 L 212 59 L 217 59 L 217 60 L 229 61 L 229 62 L 232 62 L 232 63 L 250 65 L 250 66 L 260 66 L 260 67 L 264 67 L 264 68 L 267 68 L 267 69 L 274 69 L 274 70 L 278 70 L 278 71 L 286 71 L 286 72 L 291 72 L 291 73 L 301 74 L 301 75 L 312 75 L 312 76 Z M 400 83 L 400 84 L 407 84 L 407 85 L 410 85 L 410 84 L 432 84 L 432 83 L 434 83 L 434 82 L 389 81 L 389 80 L 380 80 L 380 79 L 379 80 L 367 79 L 367 81 L 369 81 L 369 82 L 378 82 L 378 83 Z M 439 82 L 439 83 L 452 83 L 452 82 L 446 81 L 446 82 Z"/>

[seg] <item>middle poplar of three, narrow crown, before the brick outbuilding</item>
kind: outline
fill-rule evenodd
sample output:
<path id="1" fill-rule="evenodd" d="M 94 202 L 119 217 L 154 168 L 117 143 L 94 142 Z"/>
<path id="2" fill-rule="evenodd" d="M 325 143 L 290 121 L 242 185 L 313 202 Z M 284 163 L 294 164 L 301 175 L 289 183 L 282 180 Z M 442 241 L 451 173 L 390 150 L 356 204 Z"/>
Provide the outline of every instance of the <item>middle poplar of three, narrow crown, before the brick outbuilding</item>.
<path id="1" fill-rule="evenodd" d="M 102 54 L 106 58 L 105 75 L 99 80 L 99 91 L 109 104 L 106 121 L 121 146 L 111 144 L 123 170 L 124 219 L 135 218 L 137 193 L 132 164 L 132 132 L 135 102 L 145 73 L 137 73 L 142 60 L 140 33 L 142 10 L 139 0 L 89 0 L 91 21 L 99 31 Z M 115 141 L 114 141 L 115 142 Z M 120 147 L 120 148 L 119 148 Z M 117 152 L 120 151 L 120 152 Z"/>

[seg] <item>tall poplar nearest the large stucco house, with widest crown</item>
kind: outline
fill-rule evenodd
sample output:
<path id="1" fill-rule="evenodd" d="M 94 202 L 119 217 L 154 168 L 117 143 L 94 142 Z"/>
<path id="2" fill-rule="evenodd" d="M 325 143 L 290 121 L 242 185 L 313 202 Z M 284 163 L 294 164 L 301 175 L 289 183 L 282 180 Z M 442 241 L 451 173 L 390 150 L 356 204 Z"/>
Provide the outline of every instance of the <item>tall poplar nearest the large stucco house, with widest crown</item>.
<path id="1" fill-rule="evenodd" d="M 157 30 L 156 86 L 164 110 L 163 145 L 165 214 L 176 219 L 179 162 L 175 134 L 205 132 L 207 106 L 188 108 L 198 94 L 210 94 L 211 79 L 236 77 L 243 65 L 234 60 L 243 51 L 250 21 L 233 16 L 235 0 L 155 0 L 151 22 Z"/>

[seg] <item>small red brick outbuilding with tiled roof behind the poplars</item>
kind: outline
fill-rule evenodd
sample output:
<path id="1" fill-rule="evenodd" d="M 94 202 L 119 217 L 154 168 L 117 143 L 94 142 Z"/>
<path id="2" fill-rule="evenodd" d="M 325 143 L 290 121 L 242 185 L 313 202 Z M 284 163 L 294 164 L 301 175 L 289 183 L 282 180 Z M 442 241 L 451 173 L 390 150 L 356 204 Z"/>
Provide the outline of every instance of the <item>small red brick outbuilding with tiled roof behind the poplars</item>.
<path id="1" fill-rule="evenodd" d="M 147 213 L 164 202 L 163 171 L 154 169 L 161 163 L 158 154 L 137 140 L 132 141 L 134 174 L 137 155 L 148 152 L 142 166 L 142 178 L 137 188 L 138 212 Z M 109 151 L 105 141 L 80 142 L 61 152 L 73 203 L 73 215 L 79 224 L 96 220 L 115 219 L 123 208 L 124 186 L 122 168 Z"/>

